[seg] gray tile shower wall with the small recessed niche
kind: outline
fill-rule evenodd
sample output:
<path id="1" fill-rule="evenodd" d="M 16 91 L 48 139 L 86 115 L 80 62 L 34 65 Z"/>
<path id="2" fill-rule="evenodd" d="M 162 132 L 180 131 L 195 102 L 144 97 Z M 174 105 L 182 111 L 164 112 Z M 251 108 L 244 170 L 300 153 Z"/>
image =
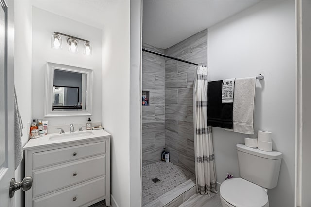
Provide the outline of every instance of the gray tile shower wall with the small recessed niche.
<path id="1" fill-rule="evenodd" d="M 163 49 L 143 47 L 164 53 Z M 164 148 L 164 58 L 142 53 L 142 90 L 149 91 L 149 106 L 142 106 L 142 165 L 161 160 Z"/>

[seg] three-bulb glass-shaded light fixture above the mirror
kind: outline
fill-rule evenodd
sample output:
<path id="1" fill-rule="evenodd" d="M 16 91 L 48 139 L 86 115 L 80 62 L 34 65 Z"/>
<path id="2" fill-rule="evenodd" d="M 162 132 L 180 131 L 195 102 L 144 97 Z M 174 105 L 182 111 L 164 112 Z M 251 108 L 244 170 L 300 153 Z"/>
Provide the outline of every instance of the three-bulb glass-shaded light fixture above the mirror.
<path id="1" fill-rule="evenodd" d="M 83 54 L 85 55 L 92 55 L 92 45 L 89 43 L 89 40 L 81 39 L 79 37 L 74 37 L 68 34 L 60 33 L 60 32 L 54 32 L 51 36 L 51 47 L 53 49 L 62 49 L 62 38 L 61 36 L 68 37 L 67 43 L 68 43 L 68 50 L 72 53 L 78 53 L 78 44 L 81 40 L 85 42 L 83 44 Z"/>

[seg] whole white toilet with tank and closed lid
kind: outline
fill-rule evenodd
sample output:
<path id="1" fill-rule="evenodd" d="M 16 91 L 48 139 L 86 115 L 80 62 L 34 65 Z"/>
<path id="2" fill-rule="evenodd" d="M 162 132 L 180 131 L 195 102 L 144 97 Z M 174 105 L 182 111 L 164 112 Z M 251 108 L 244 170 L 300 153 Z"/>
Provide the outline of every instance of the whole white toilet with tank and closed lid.
<path id="1" fill-rule="evenodd" d="M 281 152 L 265 152 L 237 144 L 241 178 L 225 180 L 220 186 L 223 207 L 269 207 L 267 189 L 276 187 Z"/>

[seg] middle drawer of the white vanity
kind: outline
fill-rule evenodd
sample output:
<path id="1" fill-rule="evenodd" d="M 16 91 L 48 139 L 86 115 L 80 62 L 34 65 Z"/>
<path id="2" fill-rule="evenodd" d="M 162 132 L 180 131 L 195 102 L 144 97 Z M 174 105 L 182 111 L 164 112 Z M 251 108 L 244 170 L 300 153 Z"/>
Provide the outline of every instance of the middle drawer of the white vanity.
<path id="1" fill-rule="evenodd" d="M 33 172 L 33 197 L 105 174 L 105 155 L 35 171 Z"/>

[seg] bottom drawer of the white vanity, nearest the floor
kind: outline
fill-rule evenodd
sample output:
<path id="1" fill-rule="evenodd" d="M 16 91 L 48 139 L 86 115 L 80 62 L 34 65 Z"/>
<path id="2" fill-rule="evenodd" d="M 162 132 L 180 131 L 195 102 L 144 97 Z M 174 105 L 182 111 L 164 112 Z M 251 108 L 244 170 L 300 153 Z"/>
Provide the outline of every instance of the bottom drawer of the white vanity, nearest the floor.
<path id="1" fill-rule="evenodd" d="M 33 201 L 33 207 L 80 207 L 106 195 L 106 178 L 60 191 Z"/>

